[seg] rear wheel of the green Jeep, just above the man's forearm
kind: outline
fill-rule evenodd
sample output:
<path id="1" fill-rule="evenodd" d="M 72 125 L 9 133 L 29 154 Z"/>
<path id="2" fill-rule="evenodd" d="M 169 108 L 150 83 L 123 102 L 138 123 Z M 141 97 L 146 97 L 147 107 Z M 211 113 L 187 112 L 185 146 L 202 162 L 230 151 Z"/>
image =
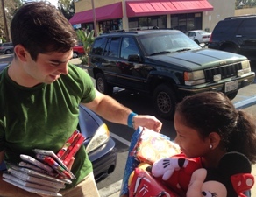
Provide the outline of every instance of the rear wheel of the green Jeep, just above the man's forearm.
<path id="1" fill-rule="evenodd" d="M 107 83 L 103 74 L 101 73 L 96 74 L 95 82 L 96 82 L 96 89 L 99 92 L 105 95 L 112 95 L 113 87 Z"/>

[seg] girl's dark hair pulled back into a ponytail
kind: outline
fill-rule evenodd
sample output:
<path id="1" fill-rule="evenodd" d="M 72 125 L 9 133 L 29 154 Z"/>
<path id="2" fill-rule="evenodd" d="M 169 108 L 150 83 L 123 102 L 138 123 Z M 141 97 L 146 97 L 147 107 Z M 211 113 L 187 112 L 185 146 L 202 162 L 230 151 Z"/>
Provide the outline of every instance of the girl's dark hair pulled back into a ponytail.
<path id="1" fill-rule="evenodd" d="M 238 151 L 252 164 L 256 163 L 256 120 L 235 109 L 223 93 L 204 92 L 185 97 L 177 104 L 176 113 L 183 117 L 185 125 L 198 130 L 202 137 L 217 132 L 226 151 Z"/>

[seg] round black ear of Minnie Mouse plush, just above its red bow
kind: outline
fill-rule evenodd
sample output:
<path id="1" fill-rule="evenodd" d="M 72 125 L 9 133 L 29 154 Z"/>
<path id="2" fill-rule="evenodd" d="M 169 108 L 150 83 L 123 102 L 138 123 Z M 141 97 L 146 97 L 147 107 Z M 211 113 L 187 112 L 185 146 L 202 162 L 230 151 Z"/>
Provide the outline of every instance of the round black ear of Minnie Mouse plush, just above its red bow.
<path id="1" fill-rule="evenodd" d="M 218 169 L 229 177 L 238 173 L 252 172 L 250 160 L 237 151 L 224 154 L 219 162 Z"/>

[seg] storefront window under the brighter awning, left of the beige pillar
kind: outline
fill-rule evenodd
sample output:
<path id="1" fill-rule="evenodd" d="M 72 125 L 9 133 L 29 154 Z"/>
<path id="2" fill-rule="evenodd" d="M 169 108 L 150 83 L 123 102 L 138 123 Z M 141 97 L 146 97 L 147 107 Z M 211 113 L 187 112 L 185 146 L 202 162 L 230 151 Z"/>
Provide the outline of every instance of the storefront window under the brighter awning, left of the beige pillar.
<path id="1" fill-rule="evenodd" d="M 140 17 L 129 18 L 129 29 L 153 29 L 153 27 L 167 28 L 167 16 L 152 16 L 152 17 Z"/>

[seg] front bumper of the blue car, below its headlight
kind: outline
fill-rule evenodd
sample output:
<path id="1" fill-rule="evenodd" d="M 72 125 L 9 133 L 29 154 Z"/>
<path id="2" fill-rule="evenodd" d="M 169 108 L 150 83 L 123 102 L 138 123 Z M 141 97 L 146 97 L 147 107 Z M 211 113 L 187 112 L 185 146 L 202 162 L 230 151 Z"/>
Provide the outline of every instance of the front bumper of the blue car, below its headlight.
<path id="1" fill-rule="evenodd" d="M 96 182 L 105 179 L 114 172 L 117 165 L 117 148 L 114 140 L 110 137 L 107 144 L 89 153 L 89 160 L 93 165 L 93 172 Z"/>

